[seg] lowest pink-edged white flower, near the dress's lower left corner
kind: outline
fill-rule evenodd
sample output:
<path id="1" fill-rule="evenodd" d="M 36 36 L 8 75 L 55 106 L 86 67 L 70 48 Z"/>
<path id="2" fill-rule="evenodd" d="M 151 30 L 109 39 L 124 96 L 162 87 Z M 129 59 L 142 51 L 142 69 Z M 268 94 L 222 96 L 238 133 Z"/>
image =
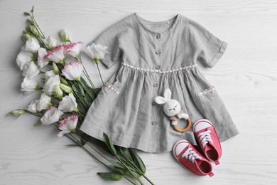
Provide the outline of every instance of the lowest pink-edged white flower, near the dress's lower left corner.
<path id="1" fill-rule="evenodd" d="M 68 134 L 70 132 L 75 132 L 79 115 L 70 115 L 69 117 L 65 117 L 64 120 L 60 121 L 58 125 L 60 131 L 57 136 L 62 137 L 64 134 Z"/>

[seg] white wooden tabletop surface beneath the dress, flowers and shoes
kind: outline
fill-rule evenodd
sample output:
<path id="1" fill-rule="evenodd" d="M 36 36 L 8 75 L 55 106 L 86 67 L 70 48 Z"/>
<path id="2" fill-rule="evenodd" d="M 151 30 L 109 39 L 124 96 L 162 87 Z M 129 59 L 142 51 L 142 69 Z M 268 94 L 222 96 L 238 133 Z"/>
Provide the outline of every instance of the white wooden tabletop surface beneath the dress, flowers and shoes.
<path id="1" fill-rule="evenodd" d="M 229 43 L 217 65 L 201 67 L 217 87 L 240 134 L 222 142 L 222 159 L 214 176 L 196 176 L 178 164 L 171 153 L 139 152 L 146 175 L 156 184 L 276 184 L 277 181 L 277 2 L 276 1 L 10 1 L 0 0 L 0 184 L 128 184 L 104 181 L 107 171 L 82 149 L 68 148 L 54 127 L 34 127 L 38 117 L 19 119 L 6 113 L 26 107 L 34 95 L 19 91 L 23 80 L 16 66 L 26 26 L 24 11 L 35 14 L 46 35 L 67 28 L 73 41 L 86 44 L 121 18 L 137 12 L 151 21 L 183 14 Z M 85 60 L 99 87 L 94 63 Z M 119 65 L 100 64 L 104 80 Z M 36 96 L 36 94 L 35 94 Z"/>

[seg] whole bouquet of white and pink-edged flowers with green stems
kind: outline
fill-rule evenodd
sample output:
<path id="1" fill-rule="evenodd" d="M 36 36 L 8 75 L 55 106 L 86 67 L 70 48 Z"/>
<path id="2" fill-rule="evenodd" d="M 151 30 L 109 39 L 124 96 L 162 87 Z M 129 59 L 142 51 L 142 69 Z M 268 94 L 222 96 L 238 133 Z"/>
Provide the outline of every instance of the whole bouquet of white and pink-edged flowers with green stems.
<path id="1" fill-rule="evenodd" d="M 81 53 L 86 53 L 97 65 L 99 60 L 107 53 L 106 46 L 92 43 L 91 46 L 82 49 L 82 42 L 71 42 L 70 33 L 65 30 L 59 32 L 60 39 L 48 36 L 45 38 L 38 23 L 31 12 L 25 12 L 28 16 L 28 26 L 23 31 L 24 46 L 16 58 L 18 68 L 24 76 L 21 83 L 21 91 L 24 95 L 30 95 L 39 91 L 40 98 L 33 100 L 24 109 L 13 110 L 7 115 L 20 115 L 28 112 L 40 117 L 35 124 L 53 125 L 60 132 L 58 137 L 68 137 L 74 144 L 68 147 L 80 147 L 93 157 L 99 164 L 109 169 L 109 172 L 99 172 L 104 179 L 119 181 L 126 179 L 131 184 L 143 184 L 140 177 L 143 176 L 150 184 L 153 182 L 147 178 L 146 166 L 136 154 L 134 149 L 114 146 L 103 133 L 103 140 L 99 141 L 82 132 L 82 125 L 89 106 L 97 97 L 99 88 L 95 88 L 85 69 Z M 104 85 L 104 82 L 102 80 Z M 109 152 L 110 156 L 104 156 L 101 149 Z M 98 154 L 101 159 L 97 158 Z M 112 159 L 109 159 L 112 157 Z"/>

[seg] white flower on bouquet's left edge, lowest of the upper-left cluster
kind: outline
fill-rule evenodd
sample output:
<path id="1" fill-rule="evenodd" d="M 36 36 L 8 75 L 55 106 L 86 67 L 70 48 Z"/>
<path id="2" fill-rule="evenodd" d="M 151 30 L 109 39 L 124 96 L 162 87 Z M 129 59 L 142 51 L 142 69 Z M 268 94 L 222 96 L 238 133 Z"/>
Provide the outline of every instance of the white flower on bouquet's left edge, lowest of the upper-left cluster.
<path id="1" fill-rule="evenodd" d="M 43 80 L 45 76 L 43 73 L 36 75 L 34 78 L 24 78 L 23 83 L 21 83 L 21 91 L 24 93 L 33 93 L 40 88 L 43 88 Z"/>

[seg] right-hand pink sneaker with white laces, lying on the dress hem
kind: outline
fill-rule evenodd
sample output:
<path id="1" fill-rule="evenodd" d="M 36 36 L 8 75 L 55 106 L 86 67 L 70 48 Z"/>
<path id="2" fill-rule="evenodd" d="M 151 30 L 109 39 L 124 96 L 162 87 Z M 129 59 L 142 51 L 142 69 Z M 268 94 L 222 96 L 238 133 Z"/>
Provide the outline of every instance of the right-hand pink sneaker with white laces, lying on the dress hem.
<path id="1" fill-rule="evenodd" d="M 206 119 L 198 120 L 193 125 L 192 130 L 205 157 L 210 162 L 218 165 L 222 149 L 217 132 L 212 123 Z"/>

